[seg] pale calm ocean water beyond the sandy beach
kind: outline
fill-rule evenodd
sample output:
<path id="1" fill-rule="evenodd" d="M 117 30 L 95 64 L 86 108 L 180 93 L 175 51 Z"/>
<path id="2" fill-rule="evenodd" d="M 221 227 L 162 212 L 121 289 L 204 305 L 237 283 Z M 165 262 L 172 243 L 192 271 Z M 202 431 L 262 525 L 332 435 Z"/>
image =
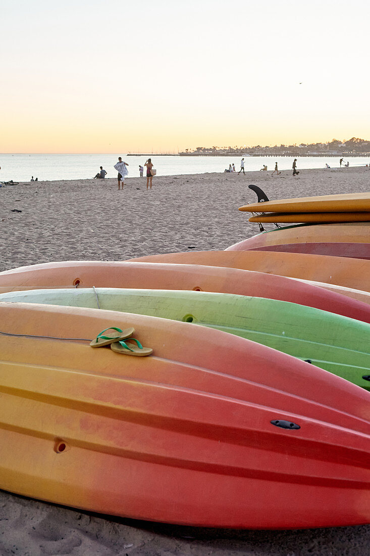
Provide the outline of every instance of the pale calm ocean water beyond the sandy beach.
<path id="1" fill-rule="evenodd" d="M 139 176 L 139 164 L 146 162 L 146 156 L 119 155 L 0 155 L 0 181 L 29 181 L 31 176 L 43 180 L 81 180 L 93 178 L 103 166 L 107 178 L 116 178 L 117 171 L 113 166 L 118 156 L 128 163 L 128 177 Z M 176 176 L 205 172 L 223 172 L 234 163 L 240 170 L 241 156 L 155 156 L 152 155 L 157 176 Z M 368 158 L 350 157 L 349 165 L 365 166 L 370 163 Z M 293 157 L 245 156 L 246 171 L 260 170 L 264 164 L 268 171 L 273 171 L 275 162 L 279 170 L 291 170 Z M 332 168 L 339 167 L 339 157 L 302 157 L 298 158 L 297 169 L 324 168 L 325 163 Z M 145 170 L 144 170 L 145 175 Z"/>

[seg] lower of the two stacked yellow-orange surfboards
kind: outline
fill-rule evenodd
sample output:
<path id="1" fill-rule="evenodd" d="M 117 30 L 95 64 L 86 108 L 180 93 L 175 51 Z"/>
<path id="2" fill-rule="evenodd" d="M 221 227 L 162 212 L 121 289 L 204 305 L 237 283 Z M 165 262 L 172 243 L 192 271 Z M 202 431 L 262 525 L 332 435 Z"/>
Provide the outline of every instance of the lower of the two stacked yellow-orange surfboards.
<path id="1" fill-rule="evenodd" d="M 259 209 L 264 203 L 258 203 Z M 266 203 L 267 204 L 267 203 Z M 242 210 L 243 207 L 241 207 Z M 279 222 L 281 224 L 306 224 L 309 222 L 370 222 L 370 211 L 363 212 L 267 212 L 251 216 L 249 222 Z"/>

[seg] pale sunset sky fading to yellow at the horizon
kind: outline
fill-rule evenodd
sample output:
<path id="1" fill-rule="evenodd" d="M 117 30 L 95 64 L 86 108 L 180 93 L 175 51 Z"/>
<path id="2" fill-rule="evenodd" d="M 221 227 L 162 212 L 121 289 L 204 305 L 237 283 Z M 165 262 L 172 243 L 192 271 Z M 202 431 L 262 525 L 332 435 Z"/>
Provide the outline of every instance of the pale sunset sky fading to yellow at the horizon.
<path id="1" fill-rule="evenodd" d="M 3 0 L 0 152 L 370 139 L 364 0 Z"/>

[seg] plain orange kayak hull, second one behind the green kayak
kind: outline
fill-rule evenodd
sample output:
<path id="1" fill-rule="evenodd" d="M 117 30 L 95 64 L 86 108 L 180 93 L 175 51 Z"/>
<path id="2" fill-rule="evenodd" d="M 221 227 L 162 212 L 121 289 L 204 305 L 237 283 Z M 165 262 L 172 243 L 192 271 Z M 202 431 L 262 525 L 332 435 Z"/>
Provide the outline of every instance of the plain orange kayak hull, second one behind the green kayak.
<path id="1" fill-rule="evenodd" d="M 363 259 L 273 251 L 195 251 L 130 260 L 255 270 L 370 291 L 370 261 Z"/>

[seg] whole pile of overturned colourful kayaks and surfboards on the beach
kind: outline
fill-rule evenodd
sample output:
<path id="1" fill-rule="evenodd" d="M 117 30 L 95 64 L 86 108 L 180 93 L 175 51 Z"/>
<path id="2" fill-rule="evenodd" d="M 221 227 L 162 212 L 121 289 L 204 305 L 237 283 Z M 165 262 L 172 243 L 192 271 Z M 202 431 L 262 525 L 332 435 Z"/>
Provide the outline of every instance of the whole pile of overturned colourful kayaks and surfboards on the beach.
<path id="1" fill-rule="evenodd" d="M 211 527 L 370 523 L 370 194 L 260 200 L 240 210 L 299 224 L 0 273 L 0 488 Z M 111 327 L 135 349 L 91 349 Z"/>

